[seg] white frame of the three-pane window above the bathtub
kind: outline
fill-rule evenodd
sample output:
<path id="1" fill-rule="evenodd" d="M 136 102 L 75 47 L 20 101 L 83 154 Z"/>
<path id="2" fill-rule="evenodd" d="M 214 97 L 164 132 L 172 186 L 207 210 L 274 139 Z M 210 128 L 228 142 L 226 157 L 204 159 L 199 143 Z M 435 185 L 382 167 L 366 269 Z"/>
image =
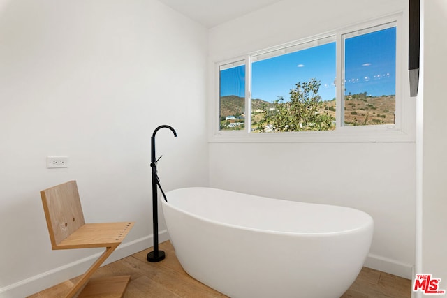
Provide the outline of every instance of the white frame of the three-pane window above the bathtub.
<path id="1" fill-rule="evenodd" d="M 344 126 L 344 57 L 342 36 L 356 32 L 381 27 L 394 23 L 396 27 L 396 82 L 395 82 L 395 124 L 379 124 L 370 126 Z M 373 31 L 379 31 L 376 29 Z M 404 33 L 406 28 L 402 24 L 402 13 L 388 15 L 380 19 L 354 24 L 342 29 L 335 29 L 320 35 L 302 38 L 291 43 L 284 43 L 264 50 L 249 52 L 233 59 L 217 61 L 214 63 L 214 96 L 212 98 L 214 111 L 210 119 L 212 121 L 210 142 L 414 142 L 415 132 L 411 121 L 413 109 L 409 105 L 409 93 L 403 90 L 404 65 L 408 52 L 402 46 L 404 44 Z M 268 52 L 279 51 L 287 47 L 300 44 L 312 43 L 315 40 L 335 36 L 336 43 L 336 128 L 334 131 L 300 131 L 300 132 L 277 132 L 277 133 L 251 133 L 251 57 Z M 241 131 L 221 131 L 220 128 L 220 76 L 219 68 L 224 64 L 235 61 L 245 61 L 245 128 Z M 340 86 L 340 87 L 339 87 Z"/>

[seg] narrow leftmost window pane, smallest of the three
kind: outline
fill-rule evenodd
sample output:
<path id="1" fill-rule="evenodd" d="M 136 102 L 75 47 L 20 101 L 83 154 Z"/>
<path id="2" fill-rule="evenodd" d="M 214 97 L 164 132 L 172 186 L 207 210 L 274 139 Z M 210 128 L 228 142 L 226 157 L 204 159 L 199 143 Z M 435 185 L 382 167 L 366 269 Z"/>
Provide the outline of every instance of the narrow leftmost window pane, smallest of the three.
<path id="1" fill-rule="evenodd" d="M 220 130 L 244 129 L 245 61 L 220 66 Z"/>

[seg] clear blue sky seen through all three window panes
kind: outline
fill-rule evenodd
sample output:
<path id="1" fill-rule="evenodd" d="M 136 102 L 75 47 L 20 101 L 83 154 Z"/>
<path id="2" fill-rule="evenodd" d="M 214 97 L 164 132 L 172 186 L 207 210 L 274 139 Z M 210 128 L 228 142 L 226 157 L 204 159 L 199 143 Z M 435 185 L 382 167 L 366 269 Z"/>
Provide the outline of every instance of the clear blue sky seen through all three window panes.
<path id="1" fill-rule="evenodd" d="M 345 94 L 395 94 L 395 27 L 346 39 Z M 323 100 L 335 98 L 335 43 L 256 61 L 252 64 L 251 98 L 272 102 L 289 98 L 297 82 L 316 78 Z M 244 96 L 244 66 L 221 71 L 221 96 Z"/>

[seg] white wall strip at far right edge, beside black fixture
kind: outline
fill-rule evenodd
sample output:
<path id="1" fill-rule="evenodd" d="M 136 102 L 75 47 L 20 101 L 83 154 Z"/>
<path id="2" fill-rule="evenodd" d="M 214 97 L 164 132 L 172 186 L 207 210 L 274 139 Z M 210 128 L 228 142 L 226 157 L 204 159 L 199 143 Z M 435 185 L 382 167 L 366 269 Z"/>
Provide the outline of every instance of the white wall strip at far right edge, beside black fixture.
<path id="1" fill-rule="evenodd" d="M 417 273 L 441 278 L 439 288 L 447 290 L 447 135 L 444 130 L 447 110 L 447 40 L 439 38 L 439 32 L 447 31 L 447 2 L 425 0 L 421 7 L 424 10 L 421 43 L 423 76 L 418 100 L 422 100 L 423 129 L 418 157 L 422 158 L 422 217 L 419 218 L 421 242 L 418 244 L 420 264 Z"/>

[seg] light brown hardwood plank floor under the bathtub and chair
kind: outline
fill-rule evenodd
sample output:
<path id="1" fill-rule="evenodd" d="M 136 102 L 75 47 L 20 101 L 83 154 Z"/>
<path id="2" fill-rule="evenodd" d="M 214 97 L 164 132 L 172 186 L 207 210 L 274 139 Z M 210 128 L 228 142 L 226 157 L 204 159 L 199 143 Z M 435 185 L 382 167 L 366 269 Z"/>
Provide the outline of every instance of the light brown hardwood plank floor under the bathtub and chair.
<path id="1" fill-rule="evenodd" d="M 131 275 L 131 282 L 124 293 L 124 298 L 227 297 L 186 274 L 175 258 L 174 248 L 169 241 L 160 244 L 159 248 L 166 252 L 166 259 L 161 262 L 147 262 L 147 253 L 152 251 L 147 249 L 99 268 L 94 277 Z M 64 297 L 75 280 L 76 278 L 73 278 L 29 297 Z M 411 281 L 364 267 L 351 288 L 341 298 L 376 297 L 409 298 Z"/>

